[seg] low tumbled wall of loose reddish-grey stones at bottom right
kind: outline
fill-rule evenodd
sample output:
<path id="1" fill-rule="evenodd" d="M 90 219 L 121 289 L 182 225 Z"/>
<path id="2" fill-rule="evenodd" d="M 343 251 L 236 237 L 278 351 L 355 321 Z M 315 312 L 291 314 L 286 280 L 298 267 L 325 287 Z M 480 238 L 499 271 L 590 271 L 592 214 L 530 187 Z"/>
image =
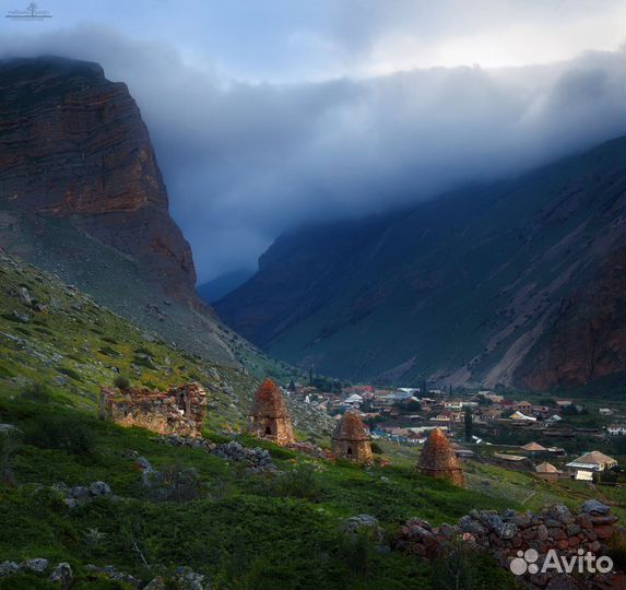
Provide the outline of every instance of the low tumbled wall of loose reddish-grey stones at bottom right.
<path id="1" fill-rule="evenodd" d="M 472 510 L 457 526 L 434 528 L 420 518 L 410 519 L 401 529 L 397 548 L 430 559 L 439 556 L 447 543 L 461 539 L 488 551 L 507 568 L 511 559 L 520 557 L 520 552 L 523 555 L 527 550 L 535 550 L 538 570 L 527 573 L 525 579 L 543 588 L 553 577 L 541 573 L 550 550 L 569 557 L 580 555 L 580 550 L 597 557 L 605 555 L 616 521 L 611 508 L 597 500 L 586 502 L 577 514 L 558 504 L 545 507 L 540 514 Z"/>

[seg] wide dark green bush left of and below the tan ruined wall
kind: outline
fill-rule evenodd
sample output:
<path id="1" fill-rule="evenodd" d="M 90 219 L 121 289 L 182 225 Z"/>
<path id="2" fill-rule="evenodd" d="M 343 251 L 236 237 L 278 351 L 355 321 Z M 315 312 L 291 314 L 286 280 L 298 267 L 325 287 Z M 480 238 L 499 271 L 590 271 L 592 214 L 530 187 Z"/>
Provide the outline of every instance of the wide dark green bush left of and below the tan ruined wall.
<path id="1" fill-rule="evenodd" d="M 92 430 L 74 416 L 36 416 L 26 424 L 25 441 L 35 447 L 61 449 L 71 455 L 94 455 Z"/>

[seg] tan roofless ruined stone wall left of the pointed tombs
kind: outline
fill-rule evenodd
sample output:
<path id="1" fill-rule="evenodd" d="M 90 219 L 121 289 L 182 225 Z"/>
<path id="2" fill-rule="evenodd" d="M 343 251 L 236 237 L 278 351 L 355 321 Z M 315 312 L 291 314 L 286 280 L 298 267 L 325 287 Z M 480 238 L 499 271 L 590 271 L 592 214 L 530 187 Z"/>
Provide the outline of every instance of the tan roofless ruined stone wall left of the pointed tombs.
<path id="1" fill-rule="evenodd" d="M 99 415 L 122 426 L 139 426 L 160 435 L 200 437 L 206 392 L 198 384 L 166 392 L 146 389 L 102 388 Z"/>

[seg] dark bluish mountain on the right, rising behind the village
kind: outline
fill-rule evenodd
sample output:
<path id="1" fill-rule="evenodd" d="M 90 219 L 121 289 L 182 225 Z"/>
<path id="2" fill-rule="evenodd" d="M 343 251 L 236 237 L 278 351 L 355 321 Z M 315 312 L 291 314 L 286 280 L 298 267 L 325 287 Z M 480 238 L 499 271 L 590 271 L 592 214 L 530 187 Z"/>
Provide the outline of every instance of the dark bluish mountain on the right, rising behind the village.
<path id="1" fill-rule="evenodd" d="M 625 154 L 619 138 L 512 180 L 302 227 L 214 307 L 269 353 L 349 379 L 619 380 Z"/>

